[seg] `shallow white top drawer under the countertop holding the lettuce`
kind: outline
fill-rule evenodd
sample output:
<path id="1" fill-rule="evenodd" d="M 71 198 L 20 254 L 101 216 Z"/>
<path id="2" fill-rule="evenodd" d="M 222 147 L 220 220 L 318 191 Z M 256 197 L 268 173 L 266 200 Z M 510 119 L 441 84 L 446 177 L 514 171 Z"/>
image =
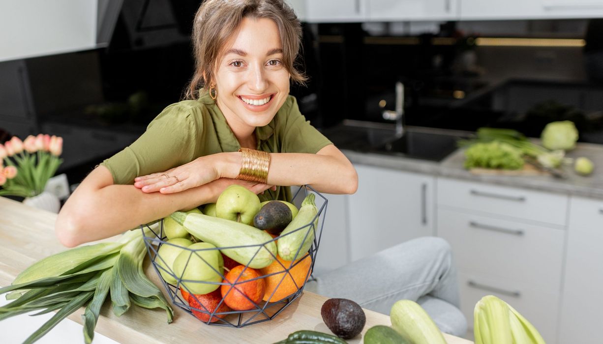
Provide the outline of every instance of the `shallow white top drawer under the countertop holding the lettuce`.
<path id="1" fill-rule="evenodd" d="M 567 196 L 438 178 L 438 204 L 566 225 Z"/>

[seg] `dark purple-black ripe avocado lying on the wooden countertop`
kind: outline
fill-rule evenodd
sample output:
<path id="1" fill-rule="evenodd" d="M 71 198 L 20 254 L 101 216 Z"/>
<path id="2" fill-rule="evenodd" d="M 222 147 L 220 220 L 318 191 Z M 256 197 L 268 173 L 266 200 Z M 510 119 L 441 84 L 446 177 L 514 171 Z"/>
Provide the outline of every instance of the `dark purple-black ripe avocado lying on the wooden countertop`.
<path id="1" fill-rule="evenodd" d="M 329 330 L 343 339 L 356 337 L 367 322 L 362 307 L 349 299 L 328 299 L 320 309 L 320 315 Z"/>

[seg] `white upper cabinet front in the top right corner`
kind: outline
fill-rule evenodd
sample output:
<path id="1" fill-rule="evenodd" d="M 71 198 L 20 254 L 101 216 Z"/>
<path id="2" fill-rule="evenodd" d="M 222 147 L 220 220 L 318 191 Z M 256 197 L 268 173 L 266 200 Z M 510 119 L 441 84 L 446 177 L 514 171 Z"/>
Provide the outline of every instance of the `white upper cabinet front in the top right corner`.
<path id="1" fill-rule="evenodd" d="M 564 19 L 603 16 L 603 0 L 459 0 L 461 20 Z"/>

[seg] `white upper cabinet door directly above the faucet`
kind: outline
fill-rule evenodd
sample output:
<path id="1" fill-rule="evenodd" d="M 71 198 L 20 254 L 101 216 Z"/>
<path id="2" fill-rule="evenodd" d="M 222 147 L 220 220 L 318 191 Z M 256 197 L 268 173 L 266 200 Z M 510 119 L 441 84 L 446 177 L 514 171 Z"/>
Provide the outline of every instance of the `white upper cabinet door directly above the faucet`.
<path id="1" fill-rule="evenodd" d="M 461 0 L 371 0 L 368 20 L 456 20 Z"/>

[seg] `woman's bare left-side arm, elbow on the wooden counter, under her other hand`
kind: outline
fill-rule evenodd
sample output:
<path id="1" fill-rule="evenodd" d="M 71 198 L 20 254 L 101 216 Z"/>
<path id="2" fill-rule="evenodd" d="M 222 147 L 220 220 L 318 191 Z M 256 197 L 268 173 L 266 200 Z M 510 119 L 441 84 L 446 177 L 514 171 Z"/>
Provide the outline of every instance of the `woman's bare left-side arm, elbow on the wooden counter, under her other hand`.
<path id="1" fill-rule="evenodd" d="M 143 193 L 133 185 L 115 185 L 109 170 L 98 166 L 81 182 L 58 213 L 55 231 L 60 242 L 74 247 L 104 239 L 140 224 L 215 202 L 230 184 L 259 193 L 269 186 L 221 178 L 172 195 Z"/>

